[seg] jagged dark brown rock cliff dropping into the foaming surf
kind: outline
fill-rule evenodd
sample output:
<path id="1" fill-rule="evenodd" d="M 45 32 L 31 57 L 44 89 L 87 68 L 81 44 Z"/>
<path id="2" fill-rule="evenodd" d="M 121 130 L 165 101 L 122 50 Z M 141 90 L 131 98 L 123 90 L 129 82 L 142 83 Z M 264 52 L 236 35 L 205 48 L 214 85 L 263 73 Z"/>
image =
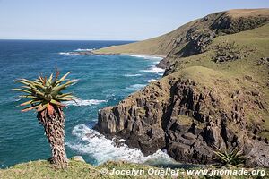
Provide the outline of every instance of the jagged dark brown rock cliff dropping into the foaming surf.
<path id="1" fill-rule="evenodd" d="M 268 141 L 254 140 L 262 129 L 246 119 L 248 106 L 265 107 L 262 97 L 259 106 L 246 96 L 251 92 L 216 90 L 215 85 L 230 85 L 221 76 L 214 80 L 204 76 L 214 83 L 208 88 L 175 75 L 153 82 L 115 107 L 101 109 L 95 128 L 126 139 L 129 147 L 141 149 L 145 155 L 167 149 L 180 162 L 208 164 L 213 162 L 213 145 L 221 149 L 244 146 L 247 165 L 269 166 Z"/>

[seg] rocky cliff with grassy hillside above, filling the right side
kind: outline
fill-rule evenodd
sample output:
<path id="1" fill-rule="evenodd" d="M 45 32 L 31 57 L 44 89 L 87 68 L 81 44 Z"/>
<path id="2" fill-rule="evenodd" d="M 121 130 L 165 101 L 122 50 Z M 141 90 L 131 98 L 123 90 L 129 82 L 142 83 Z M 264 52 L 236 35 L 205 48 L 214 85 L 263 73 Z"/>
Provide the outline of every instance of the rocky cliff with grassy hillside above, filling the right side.
<path id="1" fill-rule="evenodd" d="M 207 164 L 213 146 L 240 146 L 248 166 L 269 166 L 268 12 L 233 10 L 183 26 L 159 64 L 165 77 L 101 109 L 95 128 L 145 155 L 166 149 Z"/>

